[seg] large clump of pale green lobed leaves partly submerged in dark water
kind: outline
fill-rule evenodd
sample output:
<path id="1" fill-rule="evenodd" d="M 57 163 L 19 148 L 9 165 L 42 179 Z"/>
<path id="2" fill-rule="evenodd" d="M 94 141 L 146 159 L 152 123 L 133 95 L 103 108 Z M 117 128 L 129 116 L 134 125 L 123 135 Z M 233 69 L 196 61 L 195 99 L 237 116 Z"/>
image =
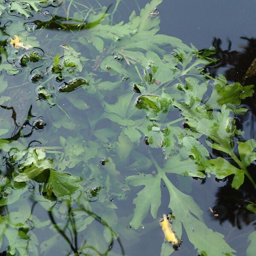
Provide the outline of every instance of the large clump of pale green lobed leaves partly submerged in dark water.
<path id="1" fill-rule="evenodd" d="M 5 10 L 20 13 L 22 19 L 39 15 L 42 1 L 32 2 L 0 1 L 0 15 L 8 18 Z M 160 17 L 151 14 L 162 0 L 147 3 L 139 15 L 133 11 L 128 23 L 113 24 L 119 2 L 116 1 L 110 15 L 107 7 L 99 12 L 84 7 L 71 17 L 70 10 L 77 9 L 78 3 L 70 1 L 67 9 L 63 6 L 67 17 L 46 17 L 46 21 L 35 21 L 27 30 L 24 26 L 28 24 L 23 23 L 18 26 L 11 23 L 4 29 L 6 39 L 21 35 L 34 47 L 28 52 L 10 45 L 3 51 L 1 48 L 0 70 L 22 78 L 26 81 L 22 86 L 28 80 L 23 74 L 42 74 L 28 83 L 33 82 L 29 84 L 33 88 L 36 84 L 35 94 L 40 99 L 35 111 L 43 112 L 52 121 L 51 124 L 47 121 L 47 129 L 43 131 L 52 144 L 32 129 L 42 145 L 26 145 L 23 129 L 33 127 L 29 119 L 17 131 L 17 141 L 9 126 L 1 122 L 1 134 L 11 132 L 11 139 L 0 140 L 1 152 L 5 152 L 3 166 L 8 167 L 2 174 L 5 179 L 0 205 L 13 204 L 22 209 L 20 198 L 26 201 L 29 184 L 38 184 L 32 198 L 48 211 L 52 223 L 52 233 L 41 243 L 40 253 L 48 253 L 61 235 L 74 254 L 105 255 L 114 239 L 119 242 L 114 229 L 121 230 L 120 234 L 126 230 L 121 228 L 123 223 L 117 218 L 114 200 L 125 200 L 129 190 L 143 186 L 134 198 L 132 217 L 124 217 L 125 221 L 130 218 L 129 226 L 136 230 L 144 224 L 149 211 L 154 219 L 163 215 L 159 207 L 161 183 L 165 183 L 170 197 L 166 212 L 172 210 L 175 215 L 173 228 L 177 236 L 180 238 L 184 230 L 199 254 L 233 255 L 235 250 L 221 233 L 207 227 L 200 207 L 190 195 L 177 189 L 172 177 L 216 175 L 222 179 L 235 175 L 232 186 L 238 189 L 246 176 L 255 185 L 247 170 L 256 160 L 255 140 L 236 142 L 243 132 L 236 127 L 235 119 L 237 114 L 247 111 L 240 104 L 253 95 L 253 85 L 227 84 L 222 75 L 212 78 L 204 73 L 203 67 L 214 61 L 211 59 L 214 49 L 199 52 L 178 38 L 157 34 Z M 55 32 L 55 41 L 47 39 L 48 29 Z M 64 34 L 58 34 L 58 29 L 72 34 L 68 43 Z M 44 41 L 40 41 L 42 38 Z M 42 52 L 36 49 L 37 40 Z M 52 49 L 48 49 L 49 45 Z M 0 79 L 1 92 L 7 92 L 6 76 Z M 8 104 L 9 99 L 9 96 L 1 97 L 1 105 Z M 6 111 L 14 108 L 4 107 Z M 162 149 L 163 156 L 149 153 L 148 147 Z M 145 148 L 143 153 L 141 148 Z M 211 148 L 228 154 L 231 161 L 223 157 L 212 159 Z M 154 171 L 149 171 L 151 168 Z M 56 203 L 60 202 L 58 206 Z M 253 210 L 252 205 L 248 208 Z M 17 215 L 17 212 L 9 214 Z M 9 253 L 18 250 L 22 255 L 32 255 L 31 251 L 38 254 L 38 240 L 31 239 L 36 235 L 28 231 L 35 217 L 32 209 L 26 221 L 13 222 L 15 242 L 9 232 L 12 223 L 9 214 L 2 216 Z M 102 224 L 103 232 L 95 228 L 97 221 Z M 49 225 L 49 221 L 35 222 L 38 227 Z M 131 232 L 131 241 L 137 239 L 138 233 Z M 86 239 L 84 244 L 78 245 L 73 240 L 78 235 Z M 254 235 L 249 239 L 253 240 Z M 20 241 L 23 241 L 22 249 L 15 247 Z M 248 250 L 252 250 L 251 245 Z M 163 241 L 161 255 L 172 251 L 172 246 Z"/>

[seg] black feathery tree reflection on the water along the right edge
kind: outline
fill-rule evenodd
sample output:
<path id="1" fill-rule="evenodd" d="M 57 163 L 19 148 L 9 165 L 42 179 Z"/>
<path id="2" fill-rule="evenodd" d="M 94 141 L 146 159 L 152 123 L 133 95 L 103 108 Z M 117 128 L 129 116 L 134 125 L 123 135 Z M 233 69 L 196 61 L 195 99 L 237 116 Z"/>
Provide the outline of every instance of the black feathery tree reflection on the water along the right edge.
<path id="1" fill-rule="evenodd" d="M 218 73 L 223 73 L 224 76 L 230 82 L 242 82 L 247 69 L 256 58 L 256 38 L 245 38 L 244 46 L 241 46 L 241 52 L 232 51 L 232 43 L 229 41 L 229 46 L 226 50 L 221 48 L 221 40 L 214 38 L 213 46 L 216 48 L 216 53 L 213 55 L 214 58 L 218 58 L 219 61 L 216 64 L 211 64 L 207 67 L 207 72 L 211 76 L 218 76 Z M 221 70 L 220 70 L 221 69 Z M 223 71 L 224 69 L 224 71 Z M 256 76 L 245 80 L 245 85 L 256 84 Z M 248 109 L 247 114 L 240 115 L 236 118 L 236 125 L 238 128 L 245 131 L 245 140 L 255 138 L 255 125 L 256 120 L 256 96 L 254 95 L 249 100 L 242 102 L 243 106 Z M 244 140 L 243 137 L 239 139 Z M 222 154 L 218 151 L 212 152 L 215 157 L 227 157 L 226 154 Z M 237 155 L 238 152 L 236 152 Z M 235 163 L 232 163 L 235 165 Z M 256 180 L 255 165 L 251 165 L 248 171 Z M 216 202 L 213 209 L 218 213 L 220 223 L 229 221 L 233 226 L 242 228 L 243 225 L 248 225 L 256 220 L 256 215 L 250 212 L 246 206 L 250 203 L 256 203 L 255 188 L 251 185 L 249 180 L 245 178 L 244 184 L 238 189 L 233 189 L 231 183 L 232 177 L 227 178 L 227 184 L 218 189 L 216 194 Z M 256 224 L 256 223 L 254 223 Z"/>

